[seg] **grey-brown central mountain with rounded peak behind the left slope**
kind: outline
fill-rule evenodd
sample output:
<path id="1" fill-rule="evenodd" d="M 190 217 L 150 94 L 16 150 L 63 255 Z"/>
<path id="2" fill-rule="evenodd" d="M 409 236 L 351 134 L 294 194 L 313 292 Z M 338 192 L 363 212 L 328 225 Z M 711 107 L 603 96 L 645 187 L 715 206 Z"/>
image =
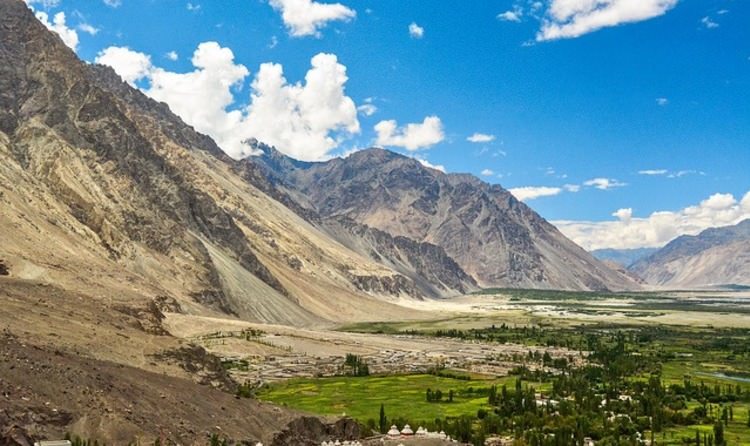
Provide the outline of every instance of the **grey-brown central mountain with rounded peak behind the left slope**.
<path id="1" fill-rule="evenodd" d="M 303 163 L 259 145 L 248 162 L 301 206 L 445 250 L 483 287 L 631 289 L 637 285 L 498 185 L 446 175 L 382 149 Z"/>

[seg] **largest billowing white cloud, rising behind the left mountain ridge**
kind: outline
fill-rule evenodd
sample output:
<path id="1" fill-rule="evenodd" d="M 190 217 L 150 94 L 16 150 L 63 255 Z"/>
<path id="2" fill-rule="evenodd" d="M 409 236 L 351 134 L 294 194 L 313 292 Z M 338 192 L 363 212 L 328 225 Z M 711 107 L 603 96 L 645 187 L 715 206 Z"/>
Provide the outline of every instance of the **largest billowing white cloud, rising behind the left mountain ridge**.
<path id="1" fill-rule="evenodd" d="M 130 83 L 147 79 L 147 95 L 169 104 L 235 158 L 254 154 L 246 141 L 256 138 L 294 158 L 321 160 L 342 138 L 360 131 L 357 108 L 344 91 L 346 67 L 333 54 L 314 56 L 304 83 L 290 84 L 279 64 L 262 64 L 245 107 L 237 107 L 233 93 L 250 72 L 235 63 L 229 48 L 204 42 L 191 60 L 194 71 L 175 73 L 128 48 L 107 48 L 96 59 Z"/>

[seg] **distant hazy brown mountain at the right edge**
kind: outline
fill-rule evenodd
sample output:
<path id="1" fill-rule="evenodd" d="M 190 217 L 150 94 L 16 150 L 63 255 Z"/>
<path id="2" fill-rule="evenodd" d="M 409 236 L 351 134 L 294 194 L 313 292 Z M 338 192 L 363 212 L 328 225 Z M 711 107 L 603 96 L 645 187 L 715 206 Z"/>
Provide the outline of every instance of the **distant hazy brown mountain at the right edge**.
<path id="1" fill-rule="evenodd" d="M 750 285 L 750 219 L 677 237 L 629 269 L 670 287 Z"/>

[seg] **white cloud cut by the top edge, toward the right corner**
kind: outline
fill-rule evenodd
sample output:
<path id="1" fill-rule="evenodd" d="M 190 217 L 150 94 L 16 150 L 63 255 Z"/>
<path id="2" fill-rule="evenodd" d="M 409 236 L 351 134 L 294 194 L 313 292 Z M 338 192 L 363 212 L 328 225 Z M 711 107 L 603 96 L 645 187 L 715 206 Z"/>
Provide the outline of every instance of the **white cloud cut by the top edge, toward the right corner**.
<path id="1" fill-rule="evenodd" d="M 661 16 L 678 0 L 551 0 L 537 41 L 579 37 Z"/>

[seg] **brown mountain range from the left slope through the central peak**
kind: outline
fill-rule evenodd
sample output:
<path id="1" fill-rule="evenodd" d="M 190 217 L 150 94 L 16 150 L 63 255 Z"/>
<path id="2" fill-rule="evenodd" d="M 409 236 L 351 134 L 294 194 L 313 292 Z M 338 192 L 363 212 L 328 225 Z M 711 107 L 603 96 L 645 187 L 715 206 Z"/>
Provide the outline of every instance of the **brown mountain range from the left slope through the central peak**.
<path id="1" fill-rule="evenodd" d="M 635 285 L 497 185 L 370 149 L 229 158 L 80 61 L 20 1 L 0 28 L 1 256 L 11 277 L 296 325 L 479 287 Z M 260 143 L 257 143 L 260 146 Z"/>

